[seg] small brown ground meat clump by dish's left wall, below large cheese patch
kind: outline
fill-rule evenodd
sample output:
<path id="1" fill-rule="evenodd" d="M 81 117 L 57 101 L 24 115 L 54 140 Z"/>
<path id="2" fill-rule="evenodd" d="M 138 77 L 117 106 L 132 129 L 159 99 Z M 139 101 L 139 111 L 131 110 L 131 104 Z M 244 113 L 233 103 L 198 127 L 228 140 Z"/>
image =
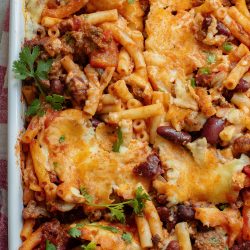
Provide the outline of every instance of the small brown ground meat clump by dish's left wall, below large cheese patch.
<path id="1" fill-rule="evenodd" d="M 23 209 L 23 218 L 26 219 L 37 219 L 37 218 L 43 218 L 48 217 L 49 214 L 45 207 L 38 206 L 35 201 L 30 201 Z"/>

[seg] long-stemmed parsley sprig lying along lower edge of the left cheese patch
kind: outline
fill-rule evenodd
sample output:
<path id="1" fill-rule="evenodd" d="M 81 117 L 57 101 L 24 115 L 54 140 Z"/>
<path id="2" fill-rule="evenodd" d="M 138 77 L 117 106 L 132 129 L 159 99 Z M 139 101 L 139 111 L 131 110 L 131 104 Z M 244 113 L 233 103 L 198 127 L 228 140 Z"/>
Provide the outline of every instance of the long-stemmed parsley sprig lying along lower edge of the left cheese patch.
<path id="1" fill-rule="evenodd" d="M 85 196 L 86 195 L 84 195 L 84 197 Z M 134 199 L 111 204 L 95 204 L 87 201 L 87 205 L 93 207 L 108 208 L 111 212 L 111 216 L 113 219 L 116 219 L 121 223 L 125 223 L 124 205 L 130 205 L 133 208 L 135 214 L 141 214 L 145 207 L 146 200 L 150 200 L 150 197 L 143 191 L 143 188 L 140 186 L 136 190 L 136 195 Z"/>

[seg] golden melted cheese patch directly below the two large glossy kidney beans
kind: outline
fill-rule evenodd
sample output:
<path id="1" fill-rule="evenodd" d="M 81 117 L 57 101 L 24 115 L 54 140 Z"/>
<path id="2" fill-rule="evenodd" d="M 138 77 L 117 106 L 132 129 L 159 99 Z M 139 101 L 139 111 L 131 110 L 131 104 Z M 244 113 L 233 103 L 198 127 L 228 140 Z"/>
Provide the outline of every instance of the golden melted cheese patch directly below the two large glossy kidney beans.
<path id="1" fill-rule="evenodd" d="M 208 150 L 206 161 L 199 165 L 182 146 L 160 137 L 156 139 L 155 146 L 160 150 L 167 182 L 156 180 L 154 187 L 158 192 L 165 193 L 171 203 L 187 200 L 224 203 L 236 200 L 244 183 L 240 172 L 249 164 L 247 156 L 221 164 L 215 152 Z"/>

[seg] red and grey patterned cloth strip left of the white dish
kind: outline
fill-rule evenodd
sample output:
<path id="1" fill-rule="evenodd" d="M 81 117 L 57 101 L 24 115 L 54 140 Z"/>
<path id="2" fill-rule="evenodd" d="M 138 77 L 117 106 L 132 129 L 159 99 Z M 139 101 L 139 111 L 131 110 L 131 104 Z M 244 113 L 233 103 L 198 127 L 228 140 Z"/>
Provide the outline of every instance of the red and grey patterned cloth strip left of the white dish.
<path id="1" fill-rule="evenodd" d="M 0 250 L 8 249 L 7 228 L 7 63 L 9 1 L 0 0 Z"/>

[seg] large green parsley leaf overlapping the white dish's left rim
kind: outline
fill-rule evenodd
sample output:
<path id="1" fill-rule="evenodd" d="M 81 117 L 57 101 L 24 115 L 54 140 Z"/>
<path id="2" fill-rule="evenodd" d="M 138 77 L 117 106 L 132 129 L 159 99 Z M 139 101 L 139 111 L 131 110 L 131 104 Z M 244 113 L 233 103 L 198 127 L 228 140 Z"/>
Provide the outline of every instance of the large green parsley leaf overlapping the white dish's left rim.
<path id="1" fill-rule="evenodd" d="M 38 46 L 35 46 L 32 50 L 29 47 L 24 47 L 19 53 L 19 60 L 13 63 L 13 71 L 18 79 L 25 80 L 29 77 L 34 78 L 36 86 L 44 95 L 40 82 L 41 80 L 48 79 L 52 60 L 39 60 L 35 67 L 35 61 L 39 55 L 40 48 Z"/>

